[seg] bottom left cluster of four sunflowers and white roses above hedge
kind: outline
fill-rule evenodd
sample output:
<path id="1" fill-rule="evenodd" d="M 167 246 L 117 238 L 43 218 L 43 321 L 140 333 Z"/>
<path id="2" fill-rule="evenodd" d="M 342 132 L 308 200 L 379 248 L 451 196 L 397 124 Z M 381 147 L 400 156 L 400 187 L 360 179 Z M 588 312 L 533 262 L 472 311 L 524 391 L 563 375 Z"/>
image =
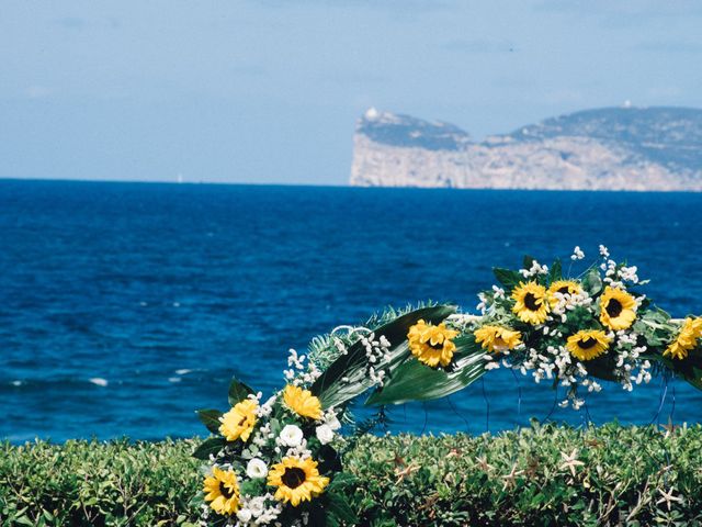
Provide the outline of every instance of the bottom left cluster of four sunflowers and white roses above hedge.
<path id="1" fill-rule="evenodd" d="M 322 410 L 305 388 L 320 373 L 304 361 L 291 350 L 288 383 L 265 402 L 234 379 L 228 412 L 199 412 L 218 436 L 195 451 L 212 462 L 204 480 L 205 525 L 307 525 L 310 518 L 316 525 L 324 508 L 338 501 L 330 483 L 340 460 L 330 444 L 341 424 L 333 407 Z M 343 503 L 337 508 L 346 513 Z"/>

